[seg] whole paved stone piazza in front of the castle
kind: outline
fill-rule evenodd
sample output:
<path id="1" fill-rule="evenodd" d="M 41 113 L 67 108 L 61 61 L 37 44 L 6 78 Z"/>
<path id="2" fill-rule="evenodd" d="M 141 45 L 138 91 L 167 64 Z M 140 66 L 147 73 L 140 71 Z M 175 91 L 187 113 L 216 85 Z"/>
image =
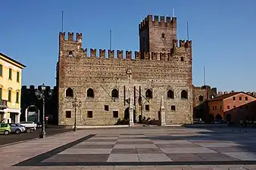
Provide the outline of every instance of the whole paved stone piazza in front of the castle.
<path id="1" fill-rule="evenodd" d="M 255 134 L 227 127 L 84 129 L 2 147 L 0 169 L 256 169 Z"/>

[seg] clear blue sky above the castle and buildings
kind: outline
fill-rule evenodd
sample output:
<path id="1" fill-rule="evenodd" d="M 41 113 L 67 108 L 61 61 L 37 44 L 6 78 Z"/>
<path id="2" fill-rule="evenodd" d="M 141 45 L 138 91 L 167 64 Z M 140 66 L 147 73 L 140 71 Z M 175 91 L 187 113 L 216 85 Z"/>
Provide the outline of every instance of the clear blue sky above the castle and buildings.
<path id="1" fill-rule="evenodd" d="M 246 3 L 245 3 L 246 2 Z M 178 20 L 177 38 L 193 50 L 193 84 L 218 91 L 256 91 L 254 0 L 44 0 L 2 1 L 0 51 L 27 66 L 23 85 L 55 85 L 61 11 L 64 31 L 83 32 L 83 48 L 139 49 L 138 24 L 149 14 Z"/>

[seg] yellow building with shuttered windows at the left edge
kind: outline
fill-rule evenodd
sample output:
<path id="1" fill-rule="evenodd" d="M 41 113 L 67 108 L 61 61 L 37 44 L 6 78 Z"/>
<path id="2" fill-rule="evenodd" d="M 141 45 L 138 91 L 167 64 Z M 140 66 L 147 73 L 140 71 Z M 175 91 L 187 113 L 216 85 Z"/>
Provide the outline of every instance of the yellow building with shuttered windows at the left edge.
<path id="1" fill-rule="evenodd" d="M 0 121 L 20 122 L 22 63 L 0 52 Z"/>

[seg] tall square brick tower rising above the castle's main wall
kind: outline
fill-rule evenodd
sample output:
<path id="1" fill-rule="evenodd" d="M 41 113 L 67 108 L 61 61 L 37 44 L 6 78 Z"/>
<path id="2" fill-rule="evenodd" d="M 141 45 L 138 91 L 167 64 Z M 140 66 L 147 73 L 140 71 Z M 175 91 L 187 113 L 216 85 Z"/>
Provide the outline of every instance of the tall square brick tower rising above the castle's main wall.
<path id="1" fill-rule="evenodd" d="M 148 15 L 139 24 L 139 48 L 145 52 L 170 52 L 176 39 L 176 17 Z"/>

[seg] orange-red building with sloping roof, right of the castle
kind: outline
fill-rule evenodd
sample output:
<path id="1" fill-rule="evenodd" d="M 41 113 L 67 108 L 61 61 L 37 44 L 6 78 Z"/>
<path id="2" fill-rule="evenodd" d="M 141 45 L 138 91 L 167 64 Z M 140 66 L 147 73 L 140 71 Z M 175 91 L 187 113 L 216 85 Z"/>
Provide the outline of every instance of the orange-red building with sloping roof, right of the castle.
<path id="1" fill-rule="evenodd" d="M 244 92 L 222 94 L 208 101 L 212 120 L 226 120 L 239 123 L 240 119 L 256 119 L 256 97 Z"/>

